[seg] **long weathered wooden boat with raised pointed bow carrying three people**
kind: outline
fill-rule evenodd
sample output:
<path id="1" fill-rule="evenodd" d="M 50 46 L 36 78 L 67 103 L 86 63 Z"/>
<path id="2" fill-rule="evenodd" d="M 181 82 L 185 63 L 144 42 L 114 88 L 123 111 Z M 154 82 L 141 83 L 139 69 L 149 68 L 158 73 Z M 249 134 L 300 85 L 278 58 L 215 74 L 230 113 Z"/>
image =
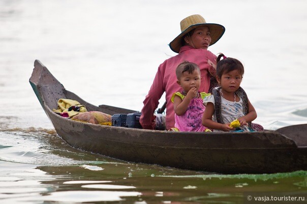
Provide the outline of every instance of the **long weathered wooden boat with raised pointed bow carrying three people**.
<path id="1" fill-rule="evenodd" d="M 142 130 L 82 123 L 52 111 L 60 98 L 77 100 L 88 111 L 133 110 L 92 105 L 62 84 L 38 60 L 29 79 L 57 134 L 72 147 L 109 157 L 187 170 L 277 173 L 307 170 L 307 125 L 250 133 L 197 133 Z"/>

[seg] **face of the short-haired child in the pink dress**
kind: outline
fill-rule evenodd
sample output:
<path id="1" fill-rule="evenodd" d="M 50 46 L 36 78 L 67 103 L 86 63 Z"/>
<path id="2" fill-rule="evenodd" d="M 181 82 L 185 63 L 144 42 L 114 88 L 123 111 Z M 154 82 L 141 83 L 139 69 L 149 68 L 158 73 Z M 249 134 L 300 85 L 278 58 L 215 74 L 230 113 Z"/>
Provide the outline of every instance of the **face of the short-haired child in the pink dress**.
<path id="1" fill-rule="evenodd" d="M 188 71 L 185 71 L 182 73 L 177 83 L 185 92 L 189 92 L 193 87 L 198 91 L 200 87 L 200 79 L 200 73 L 198 70 L 194 70 L 191 74 Z"/>

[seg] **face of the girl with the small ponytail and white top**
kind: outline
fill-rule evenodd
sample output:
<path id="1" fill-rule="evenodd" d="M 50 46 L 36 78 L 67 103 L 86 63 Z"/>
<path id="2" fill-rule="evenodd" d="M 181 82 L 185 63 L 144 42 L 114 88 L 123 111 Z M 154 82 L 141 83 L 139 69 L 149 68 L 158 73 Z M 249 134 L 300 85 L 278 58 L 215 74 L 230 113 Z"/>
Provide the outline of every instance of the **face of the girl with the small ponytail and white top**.
<path id="1" fill-rule="evenodd" d="M 232 93 L 239 89 L 242 75 L 236 69 L 228 73 L 223 73 L 221 78 L 217 76 L 217 81 L 224 91 Z"/>

